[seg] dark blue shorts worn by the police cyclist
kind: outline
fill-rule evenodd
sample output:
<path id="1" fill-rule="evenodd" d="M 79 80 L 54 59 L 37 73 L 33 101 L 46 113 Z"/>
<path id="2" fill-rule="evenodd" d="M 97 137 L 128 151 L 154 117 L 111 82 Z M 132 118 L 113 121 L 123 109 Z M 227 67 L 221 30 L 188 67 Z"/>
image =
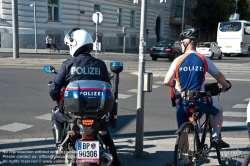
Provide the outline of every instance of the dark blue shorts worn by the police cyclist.
<path id="1" fill-rule="evenodd" d="M 198 112 L 204 112 L 206 114 L 217 114 L 219 110 L 221 109 L 221 105 L 217 100 L 213 99 L 213 107 L 208 107 L 206 102 L 199 102 L 198 108 L 196 111 Z M 192 114 L 189 112 L 188 107 L 183 105 L 183 101 L 180 104 L 176 104 L 176 119 L 177 119 L 177 125 L 178 128 L 185 123 L 188 122 L 188 118 Z"/>

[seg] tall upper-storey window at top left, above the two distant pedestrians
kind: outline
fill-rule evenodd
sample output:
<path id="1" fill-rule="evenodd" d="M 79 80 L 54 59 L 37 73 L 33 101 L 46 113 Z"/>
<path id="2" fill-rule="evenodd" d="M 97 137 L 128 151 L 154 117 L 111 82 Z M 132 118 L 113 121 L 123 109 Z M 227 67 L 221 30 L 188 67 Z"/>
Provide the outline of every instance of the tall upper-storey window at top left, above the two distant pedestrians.
<path id="1" fill-rule="evenodd" d="M 58 0 L 48 0 L 48 21 L 59 21 Z"/>

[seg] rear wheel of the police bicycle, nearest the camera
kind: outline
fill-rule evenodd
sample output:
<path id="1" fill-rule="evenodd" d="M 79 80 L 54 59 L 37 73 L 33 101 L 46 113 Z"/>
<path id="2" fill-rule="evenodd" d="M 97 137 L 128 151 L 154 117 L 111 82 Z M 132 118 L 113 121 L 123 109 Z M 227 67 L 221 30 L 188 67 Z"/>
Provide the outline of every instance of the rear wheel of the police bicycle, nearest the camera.
<path id="1" fill-rule="evenodd" d="M 187 122 L 180 129 L 175 143 L 174 165 L 198 165 L 198 135 Z"/>

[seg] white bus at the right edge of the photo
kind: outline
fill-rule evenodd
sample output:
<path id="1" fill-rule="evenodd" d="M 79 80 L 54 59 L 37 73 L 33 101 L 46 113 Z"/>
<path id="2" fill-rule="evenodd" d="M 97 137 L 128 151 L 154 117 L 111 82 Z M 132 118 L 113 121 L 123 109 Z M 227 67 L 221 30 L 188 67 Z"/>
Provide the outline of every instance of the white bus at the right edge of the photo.
<path id="1" fill-rule="evenodd" d="M 217 44 L 224 56 L 250 55 L 250 22 L 245 20 L 219 22 Z"/>

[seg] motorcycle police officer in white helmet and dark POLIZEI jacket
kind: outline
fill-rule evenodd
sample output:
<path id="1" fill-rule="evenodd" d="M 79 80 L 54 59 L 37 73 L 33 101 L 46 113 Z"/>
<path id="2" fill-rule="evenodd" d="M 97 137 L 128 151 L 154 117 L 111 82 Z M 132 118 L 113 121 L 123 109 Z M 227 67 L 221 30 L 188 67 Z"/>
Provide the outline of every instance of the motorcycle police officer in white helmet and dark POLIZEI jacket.
<path id="1" fill-rule="evenodd" d="M 73 28 L 69 31 L 64 43 L 69 46 L 72 58 L 63 62 L 59 72 L 55 76 L 49 87 L 49 94 L 54 101 L 59 102 L 61 89 L 75 80 L 100 80 L 110 84 L 109 73 L 106 64 L 92 57 L 90 52 L 93 50 L 93 39 L 91 35 L 84 29 Z M 78 72 L 77 68 L 97 68 L 96 73 Z M 63 141 L 62 124 L 67 122 L 64 112 L 58 110 L 53 111 L 51 117 L 53 136 L 58 147 Z M 113 156 L 113 165 L 120 166 L 116 147 L 108 131 L 107 122 L 103 121 L 100 125 L 100 137 L 106 146 L 109 146 L 110 153 Z"/>

